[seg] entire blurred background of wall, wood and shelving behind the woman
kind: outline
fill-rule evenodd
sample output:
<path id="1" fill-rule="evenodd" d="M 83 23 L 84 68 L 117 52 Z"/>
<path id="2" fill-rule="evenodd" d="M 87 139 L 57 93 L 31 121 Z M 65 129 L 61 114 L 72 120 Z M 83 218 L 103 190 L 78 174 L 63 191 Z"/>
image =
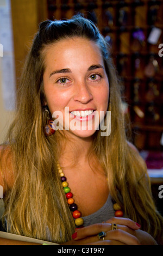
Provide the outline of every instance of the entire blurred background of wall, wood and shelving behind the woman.
<path id="1" fill-rule="evenodd" d="M 120 77 L 126 132 L 131 127 L 162 211 L 162 0 L 0 0 L 0 143 L 14 117 L 21 70 L 39 23 L 70 19 L 77 13 L 96 23 L 110 45 Z"/>

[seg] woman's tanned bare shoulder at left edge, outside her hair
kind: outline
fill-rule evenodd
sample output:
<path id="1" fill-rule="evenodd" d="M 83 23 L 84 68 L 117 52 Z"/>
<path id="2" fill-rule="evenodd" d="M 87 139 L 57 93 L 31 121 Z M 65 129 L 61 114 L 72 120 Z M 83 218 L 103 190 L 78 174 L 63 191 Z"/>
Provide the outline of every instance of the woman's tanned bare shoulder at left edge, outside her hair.
<path id="1" fill-rule="evenodd" d="M 8 145 L 0 145 L 0 185 L 5 192 L 6 187 L 13 185 L 11 150 Z"/>

